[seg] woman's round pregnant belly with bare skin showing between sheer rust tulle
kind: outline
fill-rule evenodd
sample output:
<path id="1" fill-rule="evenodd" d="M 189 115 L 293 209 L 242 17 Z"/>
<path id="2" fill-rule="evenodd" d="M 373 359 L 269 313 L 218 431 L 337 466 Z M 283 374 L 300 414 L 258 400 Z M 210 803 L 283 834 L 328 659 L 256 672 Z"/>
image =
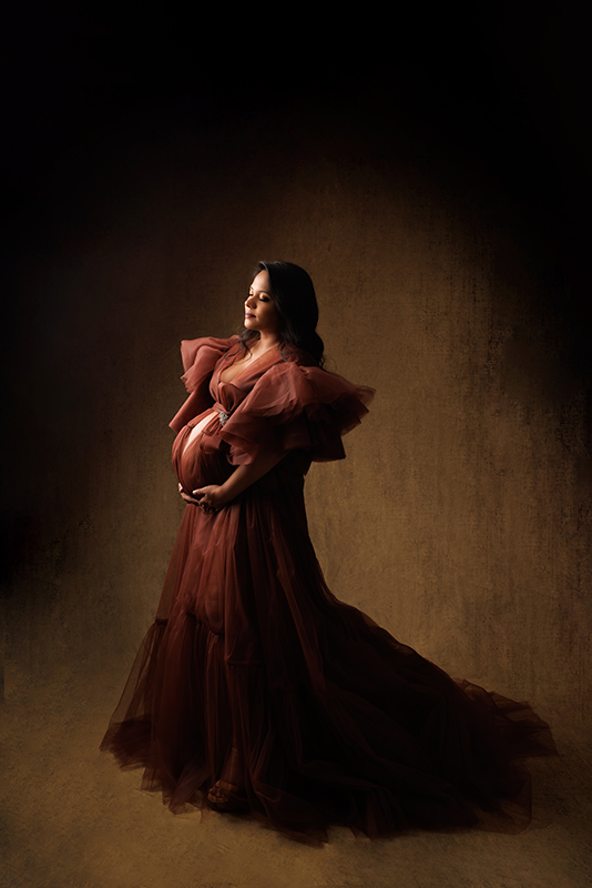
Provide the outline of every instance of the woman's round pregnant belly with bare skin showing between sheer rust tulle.
<path id="1" fill-rule="evenodd" d="M 187 493 L 206 484 L 223 484 L 234 471 L 213 437 L 220 431 L 218 412 L 212 411 L 181 430 L 173 444 L 173 466 Z"/>

